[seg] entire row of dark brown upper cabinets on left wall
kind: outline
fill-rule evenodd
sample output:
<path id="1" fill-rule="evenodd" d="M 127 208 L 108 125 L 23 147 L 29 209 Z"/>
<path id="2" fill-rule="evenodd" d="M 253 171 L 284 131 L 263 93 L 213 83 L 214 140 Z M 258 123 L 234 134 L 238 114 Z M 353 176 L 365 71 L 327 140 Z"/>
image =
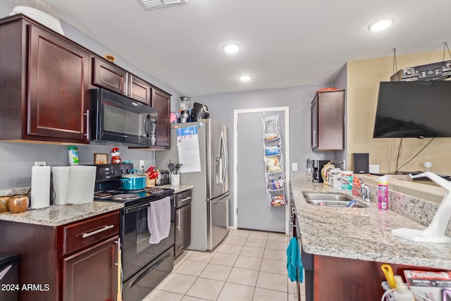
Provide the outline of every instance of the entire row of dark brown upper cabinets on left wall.
<path id="1" fill-rule="evenodd" d="M 171 94 L 23 15 L 0 19 L 0 44 L 0 140 L 89 143 L 103 87 L 156 108 L 155 148 L 171 146 Z"/>

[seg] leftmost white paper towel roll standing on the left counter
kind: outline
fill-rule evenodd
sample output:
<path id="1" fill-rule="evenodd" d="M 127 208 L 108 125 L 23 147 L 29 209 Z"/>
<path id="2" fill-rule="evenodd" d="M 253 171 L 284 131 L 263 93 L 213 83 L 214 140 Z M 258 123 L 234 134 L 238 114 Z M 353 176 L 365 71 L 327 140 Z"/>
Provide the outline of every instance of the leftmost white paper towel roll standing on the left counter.
<path id="1" fill-rule="evenodd" d="M 31 209 L 50 206 L 50 166 L 33 166 L 31 171 Z"/>

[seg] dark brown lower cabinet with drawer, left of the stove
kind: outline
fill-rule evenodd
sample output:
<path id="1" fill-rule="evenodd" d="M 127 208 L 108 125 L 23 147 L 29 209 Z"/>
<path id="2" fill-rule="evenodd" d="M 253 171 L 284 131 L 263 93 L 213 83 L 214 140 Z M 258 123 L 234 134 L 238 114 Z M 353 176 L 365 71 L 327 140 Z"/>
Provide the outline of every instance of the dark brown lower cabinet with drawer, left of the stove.
<path id="1" fill-rule="evenodd" d="M 20 256 L 19 301 L 116 300 L 119 219 L 116 210 L 61 226 L 0 221 L 0 253 Z"/>

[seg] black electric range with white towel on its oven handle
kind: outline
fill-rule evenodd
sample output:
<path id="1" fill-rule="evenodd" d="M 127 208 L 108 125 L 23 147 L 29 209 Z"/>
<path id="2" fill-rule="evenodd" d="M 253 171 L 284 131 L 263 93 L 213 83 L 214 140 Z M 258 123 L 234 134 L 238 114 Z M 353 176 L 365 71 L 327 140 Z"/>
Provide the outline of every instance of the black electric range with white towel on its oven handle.
<path id="1" fill-rule="evenodd" d="M 173 270 L 175 195 L 173 189 L 159 187 L 122 190 L 119 178 L 130 173 L 132 164 L 97 165 L 94 201 L 121 202 L 120 237 L 124 300 L 143 300 Z M 149 210 L 153 202 L 171 199 L 169 234 L 157 243 L 149 238 Z"/>

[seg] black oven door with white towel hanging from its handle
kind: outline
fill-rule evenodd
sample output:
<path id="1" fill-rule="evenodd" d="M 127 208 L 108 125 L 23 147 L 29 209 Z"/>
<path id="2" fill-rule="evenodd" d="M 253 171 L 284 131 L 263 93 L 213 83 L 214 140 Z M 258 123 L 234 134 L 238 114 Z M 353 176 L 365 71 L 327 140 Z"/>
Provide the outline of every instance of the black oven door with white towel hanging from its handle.
<path id="1" fill-rule="evenodd" d="M 157 244 L 149 243 L 150 233 L 147 227 L 147 209 L 152 202 L 137 204 L 122 209 L 122 269 L 123 279 L 140 271 L 160 254 L 174 245 L 174 197 L 171 197 L 171 228 L 167 238 Z"/>

